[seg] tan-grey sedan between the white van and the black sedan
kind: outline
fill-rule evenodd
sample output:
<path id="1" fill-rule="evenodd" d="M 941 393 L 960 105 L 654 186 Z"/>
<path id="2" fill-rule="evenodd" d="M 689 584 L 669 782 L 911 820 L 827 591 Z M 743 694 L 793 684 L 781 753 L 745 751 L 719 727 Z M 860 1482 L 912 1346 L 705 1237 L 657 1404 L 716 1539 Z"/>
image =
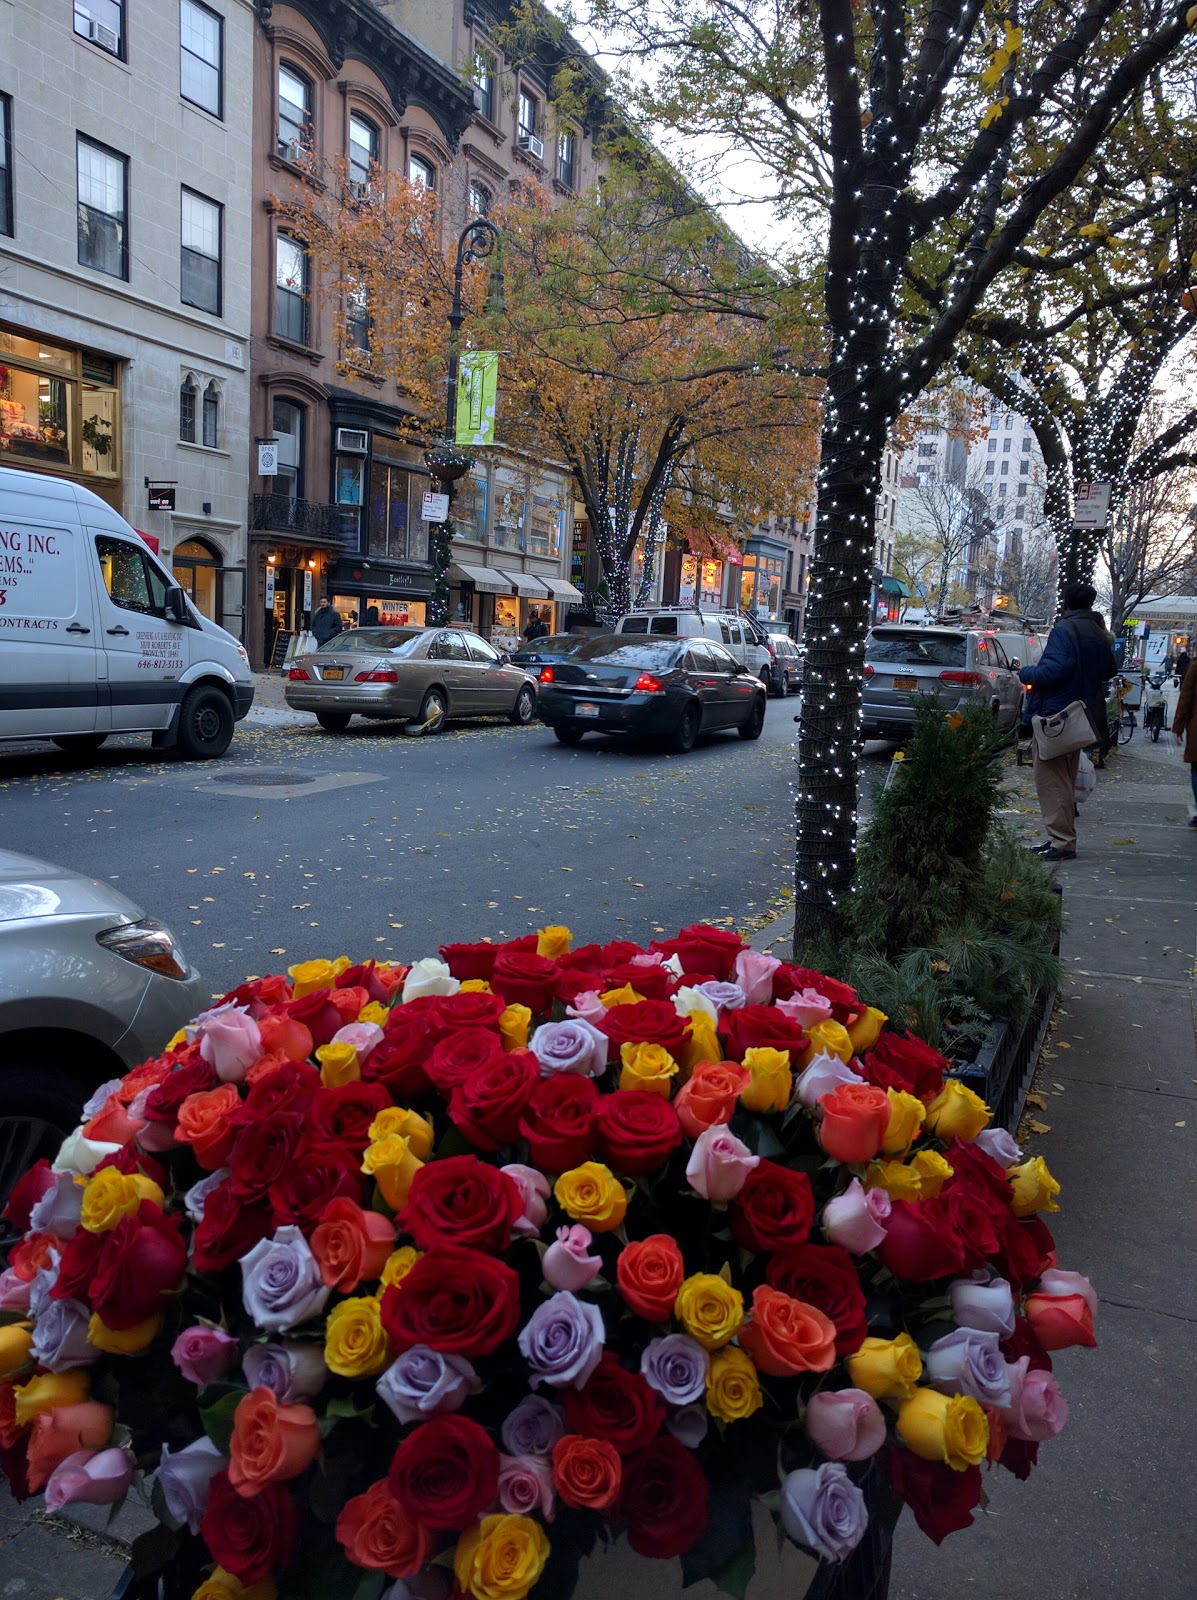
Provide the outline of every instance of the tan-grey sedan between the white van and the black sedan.
<path id="1" fill-rule="evenodd" d="M 291 662 L 285 694 L 328 733 L 355 715 L 419 722 L 426 733 L 450 717 L 536 715 L 536 678 L 464 627 L 350 627 Z"/>

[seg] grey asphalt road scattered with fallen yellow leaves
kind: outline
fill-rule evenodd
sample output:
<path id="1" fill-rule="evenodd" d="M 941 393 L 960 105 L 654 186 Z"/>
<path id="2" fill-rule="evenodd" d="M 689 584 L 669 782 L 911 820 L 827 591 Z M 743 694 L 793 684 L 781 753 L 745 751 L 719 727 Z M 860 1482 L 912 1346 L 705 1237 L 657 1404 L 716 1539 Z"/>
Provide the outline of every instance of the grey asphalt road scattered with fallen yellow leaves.
<path id="1" fill-rule="evenodd" d="M 405 738 L 251 720 L 202 763 L 133 738 L 88 757 L 0 746 L 0 842 L 117 885 L 213 994 L 317 955 L 414 960 L 546 923 L 578 942 L 744 928 L 791 882 L 795 709 L 770 701 L 760 741 L 688 755 L 502 722 Z M 887 765 L 872 750 L 866 782 Z"/>

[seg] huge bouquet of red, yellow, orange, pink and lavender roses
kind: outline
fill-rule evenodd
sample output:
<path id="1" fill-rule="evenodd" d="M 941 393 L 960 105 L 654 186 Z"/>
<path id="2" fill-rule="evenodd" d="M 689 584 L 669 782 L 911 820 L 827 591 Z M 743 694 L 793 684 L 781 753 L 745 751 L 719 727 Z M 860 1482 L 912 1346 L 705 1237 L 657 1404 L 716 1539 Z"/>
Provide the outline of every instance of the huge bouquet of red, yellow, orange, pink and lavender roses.
<path id="1" fill-rule="evenodd" d="M 8 1478 L 147 1485 L 197 1600 L 568 1595 L 619 1534 L 730 1584 L 754 1499 L 832 1563 L 866 1478 L 941 1539 L 1095 1342 L 947 1066 L 707 926 L 253 979 L 11 1195 Z"/>

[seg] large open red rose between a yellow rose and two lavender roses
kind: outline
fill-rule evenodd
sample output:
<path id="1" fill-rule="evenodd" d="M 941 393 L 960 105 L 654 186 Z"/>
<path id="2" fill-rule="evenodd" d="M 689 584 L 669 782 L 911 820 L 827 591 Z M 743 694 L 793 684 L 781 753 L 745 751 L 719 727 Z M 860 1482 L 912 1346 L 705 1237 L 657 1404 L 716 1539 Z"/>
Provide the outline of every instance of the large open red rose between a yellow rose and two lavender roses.
<path id="1" fill-rule="evenodd" d="M 518 1277 L 480 1250 L 437 1245 L 382 1293 L 382 1326 L 397 1352 L 427 1344 L 475 1360 L 498 1350 L 518 1325 Z"/>

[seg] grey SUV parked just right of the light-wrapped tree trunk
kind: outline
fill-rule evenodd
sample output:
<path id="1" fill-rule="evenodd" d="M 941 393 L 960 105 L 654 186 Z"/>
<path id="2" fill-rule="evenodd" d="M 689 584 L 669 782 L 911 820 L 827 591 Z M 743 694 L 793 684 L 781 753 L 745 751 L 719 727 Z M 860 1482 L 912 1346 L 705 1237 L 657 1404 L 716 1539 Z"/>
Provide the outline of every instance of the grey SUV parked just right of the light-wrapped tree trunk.
<path id="1" fill-rule="evenodd" d="M 895 622 L 874 627 L 864 645 L 866 739 L 904 739 L 914 726 L 915 694 L 944 710 L 992 707 L 997 726 L 1015 728 L 1023 683 L 995 634 L 971 627 Z"/>

